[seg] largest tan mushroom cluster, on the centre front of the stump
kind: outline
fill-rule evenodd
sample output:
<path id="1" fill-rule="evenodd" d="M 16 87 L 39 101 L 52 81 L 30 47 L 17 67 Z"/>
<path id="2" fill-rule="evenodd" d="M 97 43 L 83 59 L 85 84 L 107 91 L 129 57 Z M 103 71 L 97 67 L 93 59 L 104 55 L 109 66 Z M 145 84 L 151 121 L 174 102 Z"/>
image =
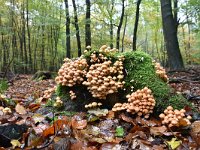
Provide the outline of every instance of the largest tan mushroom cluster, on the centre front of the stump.
<path id="1" fill-rule="evenodd" d="M 93 59 L 96 60 L 96 59 Z M 123 75 L 123 56 L 119 58 L 113 65 L 110 60 L 102 63 L 95 63 L 89 67 L 86 74 L 86 85 L 93 97 L 106 99 L 108 94 L 117 92 L 122 88 L 124 83 Z"/>

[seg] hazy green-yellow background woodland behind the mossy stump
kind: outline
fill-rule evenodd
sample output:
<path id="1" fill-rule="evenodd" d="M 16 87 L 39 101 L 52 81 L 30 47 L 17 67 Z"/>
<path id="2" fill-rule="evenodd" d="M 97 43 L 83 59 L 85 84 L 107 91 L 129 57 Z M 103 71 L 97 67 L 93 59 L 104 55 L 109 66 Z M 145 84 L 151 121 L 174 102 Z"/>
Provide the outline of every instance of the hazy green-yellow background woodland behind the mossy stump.
<path id="1" fill-rule="evenodd" d="M 184 64 L 200 63 L 200 1 L 173 0 Z M 138 25 L 138 27 L 137 27 Z M 0 71 L 56 71 L 87 45 L 143 50 L 167 65 L 159 0 L 1 0 Z"/>

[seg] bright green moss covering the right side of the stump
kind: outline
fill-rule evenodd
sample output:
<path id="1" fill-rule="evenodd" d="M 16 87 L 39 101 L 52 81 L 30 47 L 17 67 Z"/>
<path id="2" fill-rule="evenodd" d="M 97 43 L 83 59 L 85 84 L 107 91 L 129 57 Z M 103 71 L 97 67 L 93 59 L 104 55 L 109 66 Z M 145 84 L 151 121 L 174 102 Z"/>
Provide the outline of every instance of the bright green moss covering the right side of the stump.
<path id="1" fill-rule="evenodd" d="M 167 98 L 170 88 L 163 82 L 155 72 L 151 57 L 142 52 L 124 53 L 125 61 L 125 88 L 134 87 L 134 90 L 142 89 L 145 86 L 150 88 L 157 99 Z"/>

